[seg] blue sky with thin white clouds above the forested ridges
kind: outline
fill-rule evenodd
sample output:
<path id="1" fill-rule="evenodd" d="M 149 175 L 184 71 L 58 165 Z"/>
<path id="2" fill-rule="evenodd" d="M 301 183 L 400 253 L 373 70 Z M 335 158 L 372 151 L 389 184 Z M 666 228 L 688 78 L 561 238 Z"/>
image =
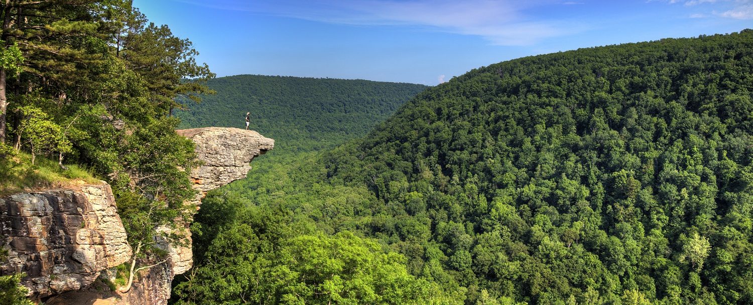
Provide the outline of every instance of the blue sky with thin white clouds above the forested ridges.
<path id="1" fill-rule="evenodd" d="M 753 0 L 134 0 L 218 77 L 437 85 L 523 56 L 753 29 Z"/>

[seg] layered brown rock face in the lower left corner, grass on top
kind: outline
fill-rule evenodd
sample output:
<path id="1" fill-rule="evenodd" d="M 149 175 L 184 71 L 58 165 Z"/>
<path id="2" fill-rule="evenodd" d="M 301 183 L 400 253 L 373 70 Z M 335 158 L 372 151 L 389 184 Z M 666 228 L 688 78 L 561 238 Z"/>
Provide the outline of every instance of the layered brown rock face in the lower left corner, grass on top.
<path id="1" fill-rule="evenodd" d="M 23 285 L 38 297 L 84 288 L 132 252 L 104 182 L 0 198 L 0 232 L 8 250 L 0 275 L 26 273 Z"/>

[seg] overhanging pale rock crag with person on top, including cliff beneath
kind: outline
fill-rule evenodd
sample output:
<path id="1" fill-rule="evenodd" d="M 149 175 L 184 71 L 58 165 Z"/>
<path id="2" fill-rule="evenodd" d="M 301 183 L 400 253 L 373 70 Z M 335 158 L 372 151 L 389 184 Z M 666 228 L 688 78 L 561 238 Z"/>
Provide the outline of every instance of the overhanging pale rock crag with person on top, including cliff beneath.
<path id="1" fill-rule="evenodd" d="M 206 192 L 217 189 L 227 183 L 245 178 L 251 166 L 248 165 L 256 156 L 263 155 L 273 149 L 275 141 L 262 136 L 256 131 L 239 128 L 192 128 L 177 130 L 178 134 L 188 137 L 196 143 L 197 159 L 204 165 L 191 171 L 194 189 L 199 194 L 190 204 L 201 204 L 201 198 Z M 184 234 L 189 224 L 184 224 Z M 157 231 L 167 228 L 157 228 Z M 191 240 L 189 235 L 188 240 Z M 191 243 L 188 246 L 176 246 L 157 240 L 160 246 L 169 254 L 167 264 L 152 267 L 143 275 L 124 300 L 130 305 L 163 305 L 170 297 L 173 276 L 185 273 L 194 264 Z M 148 264 L 146 262 L 145 264 Z"/>

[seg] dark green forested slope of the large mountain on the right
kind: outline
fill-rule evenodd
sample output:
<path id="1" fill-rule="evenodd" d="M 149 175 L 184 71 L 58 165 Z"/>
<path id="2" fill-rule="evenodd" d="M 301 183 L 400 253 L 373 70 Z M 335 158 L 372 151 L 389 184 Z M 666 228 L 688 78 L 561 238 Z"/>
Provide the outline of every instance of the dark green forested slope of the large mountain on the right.
<path id="1" fill-rule="evenodd" d="M 517 59 L 422 93 L 330 176 L 431 219 L 468 286 L 751 303 L 751 92 L 751 30 Z"/>

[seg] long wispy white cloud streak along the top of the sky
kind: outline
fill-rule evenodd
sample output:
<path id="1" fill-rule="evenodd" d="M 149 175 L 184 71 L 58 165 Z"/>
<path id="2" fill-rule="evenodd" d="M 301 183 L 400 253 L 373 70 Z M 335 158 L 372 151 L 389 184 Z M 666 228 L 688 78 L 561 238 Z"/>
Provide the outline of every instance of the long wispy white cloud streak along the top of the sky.
<path id="1" fill-rule="evenodd" d="M 526 15 L 529 8 L 557 5 L 557 2 L 549 0 L 178 1 L 324 23 L 416 26 L 439 32 L 476 35 L 497 45 L 530 45 L 545 38 L 575 34 L 586 29 L 584 24 L 569 20 L 543 20 Z"/>

